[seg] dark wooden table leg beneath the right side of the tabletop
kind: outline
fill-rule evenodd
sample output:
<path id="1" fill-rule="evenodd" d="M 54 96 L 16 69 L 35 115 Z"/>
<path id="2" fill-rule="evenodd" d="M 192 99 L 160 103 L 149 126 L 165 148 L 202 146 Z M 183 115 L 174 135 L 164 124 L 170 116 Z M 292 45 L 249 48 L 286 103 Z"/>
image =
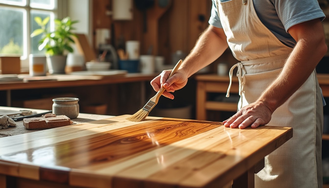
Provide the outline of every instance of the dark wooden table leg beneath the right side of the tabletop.
<path id="1" fill-rule="evenodd" d="M 232 188 L 254 188 L 255 187 L 255 168 L 252 167 L 240 177 L 233 180 Z"/>

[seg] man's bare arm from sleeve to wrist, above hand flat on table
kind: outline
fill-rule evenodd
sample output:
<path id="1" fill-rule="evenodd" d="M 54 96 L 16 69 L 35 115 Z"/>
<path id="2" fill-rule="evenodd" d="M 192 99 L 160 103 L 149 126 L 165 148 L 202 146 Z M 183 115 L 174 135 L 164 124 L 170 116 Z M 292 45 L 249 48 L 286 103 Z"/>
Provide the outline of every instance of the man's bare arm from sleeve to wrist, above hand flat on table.
<path id="1" fill-rule="evenodd" d="M 280 75 L 258 99 L 272 113 L 307 80 L 327 51 L 324 38 L 309 36 L 299 38 Z"/>

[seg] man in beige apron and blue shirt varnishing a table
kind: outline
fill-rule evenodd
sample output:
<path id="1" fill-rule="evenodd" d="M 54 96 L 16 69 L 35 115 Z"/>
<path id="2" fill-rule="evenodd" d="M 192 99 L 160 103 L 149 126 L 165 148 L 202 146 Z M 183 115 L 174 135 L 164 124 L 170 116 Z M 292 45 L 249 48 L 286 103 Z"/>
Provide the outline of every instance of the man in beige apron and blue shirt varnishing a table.
<path id="1" fill-rule="evenodd" d="M 316 0 L 213 0 L 210 26 L 178 71 L 151 81 L 155 91 L 181 89 L 188 77 L 229 46 L 240 61 L 239 111 L 223 121 L 240 129 L 293 127 L 293 138 L 266 156 L 256 187 L 322 187 L 322 96 L 315 67 L 327 51 Z M 230 88 L 229 88 L 230 89 Z M 228 95 L 229 95 L 228 89 Z"/>

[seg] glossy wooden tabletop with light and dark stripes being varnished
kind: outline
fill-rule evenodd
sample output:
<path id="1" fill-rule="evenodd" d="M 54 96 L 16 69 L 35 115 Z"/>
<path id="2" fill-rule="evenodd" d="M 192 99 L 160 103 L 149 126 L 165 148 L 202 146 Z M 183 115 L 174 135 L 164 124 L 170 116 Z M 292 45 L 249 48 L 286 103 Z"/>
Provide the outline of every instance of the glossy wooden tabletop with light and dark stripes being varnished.
<path id="1" fill-rule="evenodd" d="M 0 174 L 87 187 L 223 185 L 292 129 L 128 115 L 0 138 Z"/>

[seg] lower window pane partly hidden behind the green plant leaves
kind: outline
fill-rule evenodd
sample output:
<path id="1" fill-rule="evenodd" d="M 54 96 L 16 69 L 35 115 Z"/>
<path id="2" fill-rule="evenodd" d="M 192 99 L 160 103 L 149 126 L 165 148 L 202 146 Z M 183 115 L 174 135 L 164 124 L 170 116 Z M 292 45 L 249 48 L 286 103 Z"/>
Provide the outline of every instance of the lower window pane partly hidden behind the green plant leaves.
<path id="1" fill-rule="evenodd" d="M 31 11 L 31 20 L 30 20 L 30 34 L 32 34 L 32 32 L 36 29 L 39 29 L 41 28 L 37 22 L 34 20 L 35 17 L 41 17 L 41 19 L 43 20 L 44 18 L 46 17 L 50 17 L 50 20 L 49 22 L 47 23 L 46 25 L 46 28 L 49 28 L 50 27 L 50 31 L 52 31 L 52 27 L 54 26 L 54 14 L 52 12 L 45 12 L 45 11 L 35 11 L 35 10 L 32 10 Z M 42 37 L 42 34 L 38 35 L 38 36 L 35 36 L 35 37 L 32 37 L 31 38 L 31 46 L 30 46 L 30 49 L 31 49 L 31 54 L 44 54 L 45 53 L 45 50 L 42 50 L 42 51 L 39 51 L 38 50 L 38 46 L 39 46 L 39 41 L 41 40 L 41 37 Z"/>

